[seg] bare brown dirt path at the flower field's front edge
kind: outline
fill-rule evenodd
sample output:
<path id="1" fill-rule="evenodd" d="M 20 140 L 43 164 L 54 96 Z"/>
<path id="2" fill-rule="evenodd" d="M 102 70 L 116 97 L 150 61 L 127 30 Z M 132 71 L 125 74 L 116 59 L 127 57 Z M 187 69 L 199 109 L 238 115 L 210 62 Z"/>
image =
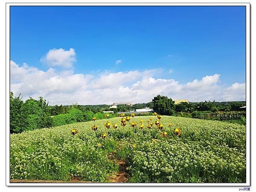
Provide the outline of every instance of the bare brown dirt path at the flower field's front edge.
<path id="1" fill-rule="evenodd" d="M 116 163 L 119 165 L 119 172 L 115 176 L 108 177 L 109 182 L 111 183 L 126 183 L 128 180 L 126 165 L 124 160 L 116 160 Z"/>

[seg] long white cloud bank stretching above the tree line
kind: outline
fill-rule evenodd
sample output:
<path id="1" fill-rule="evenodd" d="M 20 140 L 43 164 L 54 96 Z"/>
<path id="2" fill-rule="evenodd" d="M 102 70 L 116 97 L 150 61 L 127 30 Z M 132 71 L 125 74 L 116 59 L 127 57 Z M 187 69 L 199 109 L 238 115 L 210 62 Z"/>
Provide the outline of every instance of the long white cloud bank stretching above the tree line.
<path id="1" fill-rule="evenodd" d="M 58 72 L 19 66 L 11 61 L 11 91 L 23 99 L 43 96 L 50 105 L 111 104 L 113 102 L 150 102 L 160 94 L 172 99 L 189 99 L 191 102 L 215 99 L 216 101 L 245 100 L 245 83 L 230 87 L 219 85 L 219 74 L 205 76 L 181 84 L 174 79 L 154 78 L 161 69 L 126 72 L 105 72 L 98 76 L 75 74 L 71 70 Z"/>

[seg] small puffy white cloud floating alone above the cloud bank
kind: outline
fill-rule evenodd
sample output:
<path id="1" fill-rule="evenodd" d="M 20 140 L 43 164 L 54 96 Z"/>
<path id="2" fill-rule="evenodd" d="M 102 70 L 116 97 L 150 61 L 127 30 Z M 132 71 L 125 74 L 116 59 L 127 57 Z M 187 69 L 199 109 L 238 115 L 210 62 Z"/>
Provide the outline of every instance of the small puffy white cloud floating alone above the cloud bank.
<path id="1" fill-rule="evenodd" d="M 64 68 L 70 68 L 76 61 L 76 52 L 73 48 L 70 48 L 70 50 L 65 50 L 62 48 L 51 49 L 46 55 L 44 55 L 40 59 L 40 61 L 51 67 L 59 66 Z"/>

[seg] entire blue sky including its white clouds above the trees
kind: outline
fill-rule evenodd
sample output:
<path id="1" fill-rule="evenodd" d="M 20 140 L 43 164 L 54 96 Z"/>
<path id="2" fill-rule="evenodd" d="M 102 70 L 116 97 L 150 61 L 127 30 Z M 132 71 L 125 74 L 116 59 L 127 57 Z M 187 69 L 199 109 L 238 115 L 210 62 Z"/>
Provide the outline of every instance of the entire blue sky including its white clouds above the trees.
<path id="1" fill-rule="evenodd" d="M 245 8 L 11 7 L 10 69 L 49 105 L 245 100 Z"/>

